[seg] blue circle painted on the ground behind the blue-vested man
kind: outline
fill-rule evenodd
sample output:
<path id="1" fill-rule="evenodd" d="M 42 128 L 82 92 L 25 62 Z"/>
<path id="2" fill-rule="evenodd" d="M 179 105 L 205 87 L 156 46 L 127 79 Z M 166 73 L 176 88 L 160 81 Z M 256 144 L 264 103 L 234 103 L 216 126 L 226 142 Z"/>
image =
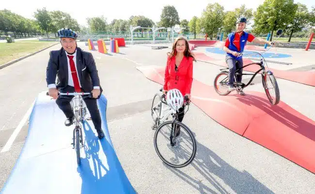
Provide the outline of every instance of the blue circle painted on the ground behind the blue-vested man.
<path id="1" fill-rule="evenodd" d="M 207 52 L 212 52 L 215 54 L 226 54 L 226 52 L 222 48 L 218 47 L 209 47 L 206 48 L 205 51 Z M 256 51 L 247 51 L 244 50 L 243 56 L 244 57 L 259 57 L 259 54 L 255 54 L 254 52 Z M 281 54 L 281 53 L 274 53 L 274 52 L 264 52 L 264 51 L 257 51 L 261 55 L 263 55 L 264 58 L 286 58 L 286 57 L 291 57 L 291 55 L 288 54 Z"/>

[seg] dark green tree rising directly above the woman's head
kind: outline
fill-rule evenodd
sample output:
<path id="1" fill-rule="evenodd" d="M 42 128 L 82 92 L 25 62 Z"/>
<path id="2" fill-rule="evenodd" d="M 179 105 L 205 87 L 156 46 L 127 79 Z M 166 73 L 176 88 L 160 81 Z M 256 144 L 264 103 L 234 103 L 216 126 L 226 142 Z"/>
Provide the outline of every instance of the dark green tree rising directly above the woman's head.
<path id="1" fill-rule="evenodd" d="M 171 28 L 179 24 L 179 16 L 175 7 L 172 5 L 164 6 L 161 16 L 160 22 L 158 23 L 159 27 Z"/>

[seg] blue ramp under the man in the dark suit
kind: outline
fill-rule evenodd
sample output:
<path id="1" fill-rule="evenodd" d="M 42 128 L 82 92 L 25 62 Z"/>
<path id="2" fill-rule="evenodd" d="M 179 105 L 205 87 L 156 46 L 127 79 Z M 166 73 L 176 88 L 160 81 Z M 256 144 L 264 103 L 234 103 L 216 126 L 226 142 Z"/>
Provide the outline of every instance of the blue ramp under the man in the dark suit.
<path id="1" fill-rule="evenodd" d="M 97 138 L 92 121 L 82 126 L 84 148 L 78 167 L 71 145 L 73 126 L 65 127 L 55 100 L 46 91 L 40 93 L 28 137 L 1 194 L 135 194 L 110 140 L 107 99 L 102 96 L 97 103 L 105 138 Z"/>

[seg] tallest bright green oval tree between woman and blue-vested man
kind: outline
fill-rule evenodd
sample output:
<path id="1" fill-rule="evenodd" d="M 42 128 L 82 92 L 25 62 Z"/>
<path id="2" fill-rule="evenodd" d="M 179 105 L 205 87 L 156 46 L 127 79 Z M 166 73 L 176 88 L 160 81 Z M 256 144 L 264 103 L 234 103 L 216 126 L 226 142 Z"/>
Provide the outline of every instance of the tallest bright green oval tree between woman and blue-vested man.
<path id="1" fill-rule="evenodd" d="M 201 27 L 212 40 L 212 34 L 217 33 L 222 27 L 224 8 L 219 3 L 209 3 L 201 16 Z"/>

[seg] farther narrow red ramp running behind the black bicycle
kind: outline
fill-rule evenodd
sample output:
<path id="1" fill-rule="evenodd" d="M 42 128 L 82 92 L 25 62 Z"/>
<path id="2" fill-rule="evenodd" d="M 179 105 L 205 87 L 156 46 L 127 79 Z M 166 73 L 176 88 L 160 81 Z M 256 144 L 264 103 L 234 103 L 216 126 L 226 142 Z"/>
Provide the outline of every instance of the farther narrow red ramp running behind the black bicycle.
<path id="1" fill-rule="evenodd" d="M 225 60 L 214 59 L 212 57 L 207 56 L 205 53 L 202 53 L 202 52 L 194 52 L 194 54 L 196 56 L 196 60 L 227 67 Z M 254 62 L 250 59 L 243 58 L 244 65 L 250 64 L 250 63 L 258 63 L 258 61 Z M 244 70 L 250 71 L 250 72 L 256 72 L 259 70 L 259 68 L 260 68 L 259 65 L 249 65 L 247 67 L 244 67 Z M 269 68 L 269 70 L 272 71 L 273 75 L 277 78 L 315 86 L 315 72 L 314 71 L 285 71 L 285 70 L 278 70 L 278 69 L 273 69 L 273 68 Z"/>

